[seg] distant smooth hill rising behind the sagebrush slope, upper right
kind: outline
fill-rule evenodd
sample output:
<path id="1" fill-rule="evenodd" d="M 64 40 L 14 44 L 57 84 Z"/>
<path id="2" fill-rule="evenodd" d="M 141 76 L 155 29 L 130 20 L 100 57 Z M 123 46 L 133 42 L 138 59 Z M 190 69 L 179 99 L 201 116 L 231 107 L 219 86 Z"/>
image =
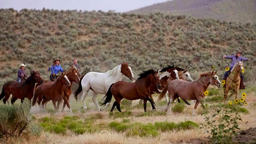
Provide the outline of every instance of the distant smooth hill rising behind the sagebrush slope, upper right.
<path id="1" fill-rule="evenodd" d="M 255 24 L 255 6 L 255 0 L 172 0 L 132 10 L 128 13 L 149 14 L 150 12 L 161 12 L 171 15 Z"/>

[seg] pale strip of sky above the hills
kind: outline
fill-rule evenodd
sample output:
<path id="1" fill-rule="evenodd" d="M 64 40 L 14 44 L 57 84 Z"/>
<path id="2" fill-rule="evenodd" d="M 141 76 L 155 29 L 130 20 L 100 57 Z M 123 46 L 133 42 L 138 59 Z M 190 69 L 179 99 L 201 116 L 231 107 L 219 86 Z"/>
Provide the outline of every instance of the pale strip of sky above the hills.
<path id="1" fill-rule="evenodd" d="M 0 0 L 0 8 L 127 12 L 170 0 Z"/>

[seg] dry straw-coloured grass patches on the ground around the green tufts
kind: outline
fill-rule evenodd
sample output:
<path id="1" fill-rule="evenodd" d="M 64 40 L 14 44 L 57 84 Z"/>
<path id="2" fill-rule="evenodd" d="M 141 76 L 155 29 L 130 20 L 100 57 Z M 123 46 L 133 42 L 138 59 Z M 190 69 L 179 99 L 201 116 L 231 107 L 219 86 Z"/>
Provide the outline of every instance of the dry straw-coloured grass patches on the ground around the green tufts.
<path id="1" fill-rule="evenodd" d="M 242 92 L 239 93 L 242 94 Z M 100 100 L 102 95 L 98 96 L 98 100 Z M 132 106 L 137 105 L 139 100 L 134 100 L 132 102 Z M 251 92 L 247 94 L 246 102 L 248 103 L 247 106 L 244 106 L 244 108 L 248 109 L 250 112 L 249 114 L 241 114 L 242 122 L 239 122 L 239 128 L 241 130 L 246 130 L 250 127 L 255 127 L 255 117 L 256 117 L 256 110 L 252 105 L 255 105 L 256 103 L 256 96 L 255 92 Z M 194 109 L 194 102 L 190 101 L 191 105 L 186 106 L 184 112 L 182 113 L 172 113 L 167 114 L 166 116 L 141 116 L 136 117 L 138 114 L 144 113 L 143 107 L 141 108 L 133 108 L 132 110 L 129 110 L 132 112 L 132 116 L 129 116 L 126 119 L 130 119 L 130 122 L 140 122 L 140 123 L 154 123 L 154 122 L 182 122 L 186 120 L 190 120 L 193 122 L 196 122 L 198 124 L 204 123 L 204 115 L 201 116 L 200 112 L 202 112 L 202 107 L 199 105 L 198 109 L 196 110 L 196 116 L 192 116 L 192 110 Z M 85 110 L 84 113 L 82 113 L 82 102 L 74 100 L 74 98 L 71 98 L 71 107 L 72 109 L 78 108 L 78 112 L 76 113 L 70 113 L 67 112 L 57 112 L 57 113 L 49 113 L 49 112 L 40 112 L 38 106 L 32 107 L 31 112 L 33 115 L 38 119 L 45 116 L 53 116 L 54 118 L 61 119 L 64 116 L 79 116 L 80 118 L 88 118 L 91 115 L 100 113 L 104 116 L 102 119 L 98 119 L 94 121 L 94 124 L 99 123 L 106 123 L 109 124 L 110 122 L 117 121 L 122 122 L 123 118 L 109 118 L 109 110 L 110 108 L 107 108 L 107 110 L 99 112 L 96 110 L 96 106 L 92 103 L 91 97 L 89 96 L 86 98 L 86 104 L 88 106 L 88 110 Z M 121 104 L 122 106 L 122 104 Z M 51 103 L 48 103 L 48 108 L 53 108 Z M 156 106 L 158 111 L 161 111 L 166 106 Z M 148 106 L 148 110 L 151 110 L 151 106 Z M 116 112 L 117 110 L 114 110 Z M 125 108 L 123 108 L 123 111 L 125 111 Z M 210 110 L 210 112 L 212 112 Z M 210 114 L 208 114 L 210 115 Z M 185 130 L 185 131 L 173 131 L 173 132 L 163 132 L 160 134 L 160 136 L 157 136 L 156 138 L 153 137 L 126 137 L 125 132 L 124 133 L 117 133 L 112 130 L 102 130 L 97 133 L 85 133 L 81 135 L 74 134 L 70 130 L 67 130 L 67 134 L 65 135 L 59 135 L 49 132 L 44 132 L 40 138 L 32 137 L 29 140 L 26 139 L 11 139 L 8 141 L 8 143 L 62 143 L 62 144 L 130 144 L 130 143 L 140 143 L 140 144 L 149 144 L 149 143 L 186 143 L 187 141 L 194 139 L 194 138 L 205 138 L 208 137 L 209 134 L 207 134 L 203 129 L 193 129 L 193 130 Z"/>

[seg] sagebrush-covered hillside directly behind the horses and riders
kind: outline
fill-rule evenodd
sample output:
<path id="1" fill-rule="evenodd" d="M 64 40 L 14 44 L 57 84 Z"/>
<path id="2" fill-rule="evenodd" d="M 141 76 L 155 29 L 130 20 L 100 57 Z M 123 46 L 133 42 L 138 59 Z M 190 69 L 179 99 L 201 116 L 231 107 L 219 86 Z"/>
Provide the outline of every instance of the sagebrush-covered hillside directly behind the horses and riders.
<path id="1" fill-rule="evenodd" d="M 230 64 L 230 60 L 222 61 L 222 55 L 233 54 L 237 48 L 256 64 L 255 24 L 160 13 L 0 10 L 1 86 L 16 79 L 21 63 L 27 65 L 26 72 L 39 70 L 48 79 L 46 69 L 54 58 L 60 58 L 66 69 L 77 58 L 82 70 L 87 66 L 96 72 L 128 62 L 136 78 L 142 70 L 166 64 L 191 72 L 215 66 L 222 77 Z"/>

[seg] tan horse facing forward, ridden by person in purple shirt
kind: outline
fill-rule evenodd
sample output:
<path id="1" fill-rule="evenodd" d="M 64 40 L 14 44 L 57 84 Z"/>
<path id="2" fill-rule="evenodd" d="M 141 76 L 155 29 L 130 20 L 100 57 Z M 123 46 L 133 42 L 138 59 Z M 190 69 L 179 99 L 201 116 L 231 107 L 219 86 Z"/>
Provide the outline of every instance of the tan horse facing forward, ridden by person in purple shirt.
<path id="1" fill-rule="evenodd" d="M 237 93 L 239 89 L 239 84 L 240 84 L 240 72 L 243 70 L 244 64 L 241 61 L 238 61 L 237 64 L 234 65 L 234 67 L 231 70 L 231 73 L 228 75 L 227 81 L 226 81 L 226 88 L 224 88 L 224 102 L 226 102 L 226 99 L 228 97 L 228 91 L 232 90 L 232 93 L 230 94 L 229 98 L 236 94 L 237 98 Z"/>

